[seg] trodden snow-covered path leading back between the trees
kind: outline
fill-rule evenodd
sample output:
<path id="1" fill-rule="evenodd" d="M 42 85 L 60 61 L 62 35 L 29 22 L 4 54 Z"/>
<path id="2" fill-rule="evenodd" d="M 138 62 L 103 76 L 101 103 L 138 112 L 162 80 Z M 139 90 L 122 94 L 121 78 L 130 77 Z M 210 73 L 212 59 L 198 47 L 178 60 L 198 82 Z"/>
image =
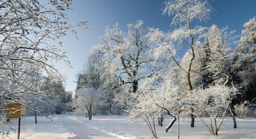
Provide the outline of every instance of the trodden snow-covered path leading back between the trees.
<path id="1" fill-rule="evenodd" d="M 68 139 L 124 139 L 118 134 L 91 125 L 85 117 L 71 114 L 58 117 L 69 132 L 76 134 L 75 137 Z"/>

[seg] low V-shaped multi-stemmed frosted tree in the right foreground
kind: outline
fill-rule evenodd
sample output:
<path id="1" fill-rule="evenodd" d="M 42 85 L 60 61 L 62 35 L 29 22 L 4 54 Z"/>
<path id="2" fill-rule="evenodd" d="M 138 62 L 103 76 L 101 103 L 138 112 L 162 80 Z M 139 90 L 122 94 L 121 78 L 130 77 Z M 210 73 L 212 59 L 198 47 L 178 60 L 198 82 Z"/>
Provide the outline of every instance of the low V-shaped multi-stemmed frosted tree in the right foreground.
<path id="1" fill-rule="evenodd" d="M 209 128 L 210 133 L 217 135 L 228 115 L 231 101 L 238 93 L 235 86 L 216 84 L 206 89 L 194 89 L 183 101 L 190 105 L 195 104 L 192 105 L 195 107 L 193 114 Z"/>

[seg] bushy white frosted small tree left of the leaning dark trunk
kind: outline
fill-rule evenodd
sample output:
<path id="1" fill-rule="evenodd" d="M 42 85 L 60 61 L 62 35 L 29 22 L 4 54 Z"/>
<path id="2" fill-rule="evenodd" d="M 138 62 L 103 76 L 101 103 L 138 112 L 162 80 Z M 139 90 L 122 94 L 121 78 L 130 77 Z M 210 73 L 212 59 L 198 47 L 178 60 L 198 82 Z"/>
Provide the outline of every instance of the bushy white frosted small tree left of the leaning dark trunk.
<path id="1" fill-rule="evenodd" d="M 156 120 L 161 117 L 162 113 L 175 117 L 179 96 L 175 79 L 177 79 L 177 74 L 170 72 L 164 75 L 158 72 L 142 82 L 135 94 L 126 92 L 127 95 L 120 95 L 115 99 L 119 99 L 121 106 L 125 106 L 124 111 L 129 113 L 130 122 L 139 121 L 146 124 L 153 137 L 158 138 L 155 131 Z M 164 82 L 167 80 L 170 82 Z"/>

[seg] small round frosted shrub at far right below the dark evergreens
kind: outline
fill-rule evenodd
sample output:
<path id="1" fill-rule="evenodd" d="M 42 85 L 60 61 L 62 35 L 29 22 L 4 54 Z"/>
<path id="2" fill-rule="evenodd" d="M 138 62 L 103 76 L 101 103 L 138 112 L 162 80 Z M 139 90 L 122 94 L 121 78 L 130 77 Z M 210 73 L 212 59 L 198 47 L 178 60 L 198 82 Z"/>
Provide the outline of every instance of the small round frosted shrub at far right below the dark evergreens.
<path id="1" fill-rule="evenodd" d="M 248 110 L 249 110 L 248 105 L 249 105 L 248 101 L 243 101 L 243 102 L 241 102 L 241 104 L 236 104 L 234 106 L 235 113 L 236 113 L 236 115 L 238 116 L 239 119 L 244 119 L 244 117 L 248 113 Z"/>

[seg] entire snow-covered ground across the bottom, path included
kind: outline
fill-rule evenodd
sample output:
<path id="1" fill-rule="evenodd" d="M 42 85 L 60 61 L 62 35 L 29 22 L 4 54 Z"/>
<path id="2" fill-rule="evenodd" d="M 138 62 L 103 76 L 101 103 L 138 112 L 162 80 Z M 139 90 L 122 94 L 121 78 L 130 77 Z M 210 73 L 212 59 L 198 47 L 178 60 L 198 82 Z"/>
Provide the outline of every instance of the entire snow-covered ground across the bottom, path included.
<path id="1" fill-rule="evenodd" d="M 165 133 L 165 126 L 172 118 L 165 115 L 164 126 L 156 126 L 159 139 L 177 139 L 178 122 Z M 93 116 L 92 120 L 74 114 L 57 115 L 54 123 L 44 117 L 21 119 L 20 139 L 153 139 L 147 125 L 141 123 L 129 124 L 125 116 Z M 232 119 L 226 119 L 218 136 L 213 136 L 198 119 L 195 127 L 191 128 L 190 119 L 180 119 L 180 139 L 256 139 L 256 119 L 236 119 L 238 128 L 233 128 Z M 18 129 L 18 120 L 12 119 L 8 126 Z M 17 134 L 10 131 L 12 139 Z"/>

